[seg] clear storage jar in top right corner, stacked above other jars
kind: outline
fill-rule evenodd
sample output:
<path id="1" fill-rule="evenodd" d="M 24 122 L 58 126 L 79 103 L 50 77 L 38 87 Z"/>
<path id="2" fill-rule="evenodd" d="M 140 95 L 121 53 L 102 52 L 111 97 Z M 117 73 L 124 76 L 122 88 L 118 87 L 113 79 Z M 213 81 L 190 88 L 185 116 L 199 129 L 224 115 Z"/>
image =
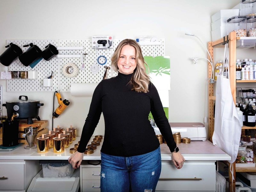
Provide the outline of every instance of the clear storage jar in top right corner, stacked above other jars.
<path id="1" fill-rule="evenodd" d="M 244 16 L 256 15 L 256 0 L 240 1 L 240 15 L 244 15 Z"/>

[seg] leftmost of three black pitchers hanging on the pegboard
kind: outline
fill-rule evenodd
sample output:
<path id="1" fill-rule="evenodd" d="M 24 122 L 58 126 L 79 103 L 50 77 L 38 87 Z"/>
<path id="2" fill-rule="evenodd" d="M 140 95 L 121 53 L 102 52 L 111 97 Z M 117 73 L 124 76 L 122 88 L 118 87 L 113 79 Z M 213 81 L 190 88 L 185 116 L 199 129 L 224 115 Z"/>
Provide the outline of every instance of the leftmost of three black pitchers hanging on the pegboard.
<path id="1" fill-rule="evenodd" d="M 4 66 L 9 66 L 22 54 L 22 50 L 18 45 L 13 43 L 10 43 L 5 47 L 7 49 L 0 55 L 0 63 Z"/>

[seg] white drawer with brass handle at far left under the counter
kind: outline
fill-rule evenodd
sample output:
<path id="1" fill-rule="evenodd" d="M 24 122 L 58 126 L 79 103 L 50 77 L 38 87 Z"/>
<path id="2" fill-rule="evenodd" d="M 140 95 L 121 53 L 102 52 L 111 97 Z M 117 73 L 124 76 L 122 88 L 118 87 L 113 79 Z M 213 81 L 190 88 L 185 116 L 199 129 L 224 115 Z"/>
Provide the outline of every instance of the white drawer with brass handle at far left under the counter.
<path id="1" fill-rule="evenodd" d="M 24 190 L 25 164 L 9 164 L 0 162 L 0 190 Z"/>

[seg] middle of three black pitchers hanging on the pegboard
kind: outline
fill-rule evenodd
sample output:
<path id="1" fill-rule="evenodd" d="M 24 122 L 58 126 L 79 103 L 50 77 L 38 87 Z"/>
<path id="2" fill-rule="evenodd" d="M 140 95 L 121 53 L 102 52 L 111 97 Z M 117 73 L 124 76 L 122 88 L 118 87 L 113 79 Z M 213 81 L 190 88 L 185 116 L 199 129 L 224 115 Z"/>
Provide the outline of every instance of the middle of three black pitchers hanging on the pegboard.
<path id="1" fill-rule="evenodd" d="M 20 62 L 26 67 L 28 67 L 35 60 L 39 59 L 42 55 L 42 51 L 38 46 L 34 45 L 33 43 L 23 45 L 23 47 L 28 46 L 30 47 L 27 49 L 27 51 L 22 53 L 19 57 Z"/>

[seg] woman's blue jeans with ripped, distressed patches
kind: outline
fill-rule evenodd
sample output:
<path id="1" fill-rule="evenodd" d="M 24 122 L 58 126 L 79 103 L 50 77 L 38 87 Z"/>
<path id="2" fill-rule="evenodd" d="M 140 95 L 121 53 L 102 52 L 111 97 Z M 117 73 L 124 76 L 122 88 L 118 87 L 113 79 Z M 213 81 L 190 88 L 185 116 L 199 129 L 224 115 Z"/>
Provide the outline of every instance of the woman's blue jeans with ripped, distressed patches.
<path id="1" fill-rule="evenodd" d="M 101 192 L 154 192 L 161 173 L 160 147 L 138 156 L 101 153 Z"/>

